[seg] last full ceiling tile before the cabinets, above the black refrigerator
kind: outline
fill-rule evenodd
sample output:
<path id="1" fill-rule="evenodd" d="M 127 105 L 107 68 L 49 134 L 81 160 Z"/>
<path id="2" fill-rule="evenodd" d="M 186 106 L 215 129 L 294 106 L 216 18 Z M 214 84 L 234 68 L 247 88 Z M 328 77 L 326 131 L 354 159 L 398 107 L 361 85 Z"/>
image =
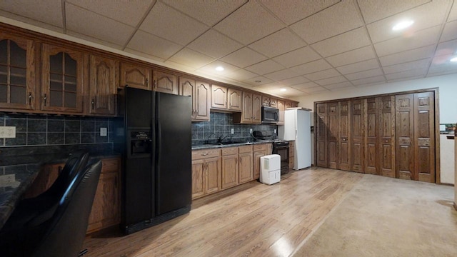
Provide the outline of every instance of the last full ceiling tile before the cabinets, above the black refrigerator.
<path id="1" fill-rule="evenodd" d="M 147 34 L 144 31 L 136 31 L 126 49 L 132 49 L 141 53 L 150 54 L 160 57 L 161 59 L 169 59 L 176 54 L 182 46 L 174 44 L 171 41 L 161 39 L 158 36 Z"/>

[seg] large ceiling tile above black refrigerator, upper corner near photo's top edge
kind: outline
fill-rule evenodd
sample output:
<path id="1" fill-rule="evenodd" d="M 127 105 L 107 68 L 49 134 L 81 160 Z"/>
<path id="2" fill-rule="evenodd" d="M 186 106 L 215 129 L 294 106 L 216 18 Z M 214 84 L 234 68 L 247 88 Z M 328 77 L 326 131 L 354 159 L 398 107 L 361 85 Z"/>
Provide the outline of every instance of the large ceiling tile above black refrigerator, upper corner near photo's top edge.
<path id="1" fill-rule="evenodd" d="M 157 2 L 139 27 L 149 34 L 186 45 L 209 29 L 209 26 Z"/>

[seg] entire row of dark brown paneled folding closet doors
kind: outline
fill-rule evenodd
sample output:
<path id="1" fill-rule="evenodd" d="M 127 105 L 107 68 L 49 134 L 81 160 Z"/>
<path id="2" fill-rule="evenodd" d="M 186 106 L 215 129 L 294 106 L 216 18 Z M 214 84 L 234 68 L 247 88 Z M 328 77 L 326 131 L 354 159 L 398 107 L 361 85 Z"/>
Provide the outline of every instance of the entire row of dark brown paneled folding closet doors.
<path id="1" fill-rule="evenodd" d="M 316 164 L 435 182 L 436 90 L 316 103 Z"/>

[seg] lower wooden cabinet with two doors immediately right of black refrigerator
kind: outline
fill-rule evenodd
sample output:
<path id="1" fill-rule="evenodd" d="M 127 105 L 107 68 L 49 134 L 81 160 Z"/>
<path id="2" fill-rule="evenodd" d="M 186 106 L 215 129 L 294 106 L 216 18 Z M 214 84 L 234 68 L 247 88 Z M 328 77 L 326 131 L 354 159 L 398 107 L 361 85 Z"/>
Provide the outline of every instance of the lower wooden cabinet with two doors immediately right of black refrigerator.
<path id="1" fill-rule="evenodd" d="M 221 190 L 221 151 L 192 151 L 192 198 Z"/>

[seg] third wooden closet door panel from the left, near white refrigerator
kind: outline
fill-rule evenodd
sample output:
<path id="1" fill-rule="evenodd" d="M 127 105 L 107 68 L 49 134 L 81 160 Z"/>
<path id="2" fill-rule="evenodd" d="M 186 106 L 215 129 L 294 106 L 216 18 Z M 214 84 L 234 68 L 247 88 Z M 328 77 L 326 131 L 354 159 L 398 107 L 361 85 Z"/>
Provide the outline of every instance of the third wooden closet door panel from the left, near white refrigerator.
<path id="1" fill-rule="evenodd" d="M 350 129 L 350 102 L 339 102 L 338 114 L 338 168 L 343 171 L 351 170 L 351 129 Z"/>

